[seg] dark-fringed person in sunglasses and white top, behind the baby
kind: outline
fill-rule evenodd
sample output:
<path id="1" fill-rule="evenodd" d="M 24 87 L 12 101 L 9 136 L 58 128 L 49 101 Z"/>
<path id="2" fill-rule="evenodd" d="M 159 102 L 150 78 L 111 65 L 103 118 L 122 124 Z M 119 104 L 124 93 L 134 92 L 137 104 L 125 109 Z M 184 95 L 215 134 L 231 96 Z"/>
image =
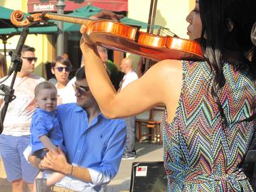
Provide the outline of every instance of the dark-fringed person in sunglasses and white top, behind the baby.
<path id="1" fill-rule="evenodd" d="M 57 80 L 56 88 L 58 90 L 58 102 L 57 105 L 75 102 L 75 92 L 73 87 L 68 84 L 68 75 L 72 69 L 72 64 L 68 58 L 58 56 L 51 64 L 51 72 L 55 75 Z"/>

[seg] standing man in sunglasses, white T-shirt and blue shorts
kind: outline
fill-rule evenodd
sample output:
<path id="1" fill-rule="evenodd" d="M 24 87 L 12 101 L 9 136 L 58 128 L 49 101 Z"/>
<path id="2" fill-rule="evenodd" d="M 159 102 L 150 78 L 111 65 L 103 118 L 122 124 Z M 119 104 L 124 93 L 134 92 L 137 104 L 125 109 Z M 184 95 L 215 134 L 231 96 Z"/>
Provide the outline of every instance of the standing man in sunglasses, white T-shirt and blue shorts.
<path id="1" fill-rule="evenodd" d="M 38 83 L 44 81 L 33 74 L 37 60 L 34 48 L 23 46 L 21 59 L 22 68 L 14 83 L 16 99 L 9 103 L 4 119 L 4 131 L 0 135 L 0 154 L 13 192 L 24 192 L 25 183 L 28 183 L 28 188 L 32 191 L 34 178 L 38 174 L 38 169 L 28 164 L 24 158 L 23 151 L 30 143 L 31 115 L 36 109 L 33 91 Z M 12 76 L 4 85 L 11 85 Z M 3 97 L 0 99 L 1 105 Z"/>

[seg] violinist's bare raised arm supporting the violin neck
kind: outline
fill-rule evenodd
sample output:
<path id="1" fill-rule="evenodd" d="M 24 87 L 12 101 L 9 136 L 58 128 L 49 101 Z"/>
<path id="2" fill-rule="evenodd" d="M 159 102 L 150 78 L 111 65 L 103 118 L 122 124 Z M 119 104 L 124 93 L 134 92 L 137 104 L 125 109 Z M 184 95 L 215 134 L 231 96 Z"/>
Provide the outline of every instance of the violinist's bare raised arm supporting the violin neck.
<path id="1" fill-rule="evenodd" d="M 81 28 L 84 33 L 85 28 Z M 110 82 L 96 46 L 84 39 L 80 42 L 85 58 L 85 74 L 92 95 L 100 109 L 109 118 L 129 117 L 164 104 L 173 117 L 181 92 L 182 65 L 179 60 L 162 60 L 151 67 L 138 80 L 131 82 L 121 92 L 116 92 Z M 85 43 L 87 42 L 87 43 Z"/>

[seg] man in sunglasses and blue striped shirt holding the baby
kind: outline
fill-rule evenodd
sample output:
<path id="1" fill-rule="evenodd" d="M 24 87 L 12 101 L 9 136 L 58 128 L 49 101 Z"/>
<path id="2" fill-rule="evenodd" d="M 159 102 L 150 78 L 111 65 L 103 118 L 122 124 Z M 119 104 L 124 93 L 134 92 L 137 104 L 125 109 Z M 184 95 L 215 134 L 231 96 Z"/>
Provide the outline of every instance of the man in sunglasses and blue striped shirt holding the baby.
<path id="1" fill-rule="evenodd" d="M 84 67 L 78 69 L 75 78 L 77 102 L 57 107 L 68 157 L 59 150 L 59 154 L 48 152 L 42 161 L 36 156 L 29 160 L 41 169 L 67 175 L 51 191 L 104 191 L 119 169 L 126 141 L 125 123 L 102 115 L 87 85 Z M 47 170 L 44 173 L 47 177 Z M 44 188 L 41 191 L 46 191 Z"/>

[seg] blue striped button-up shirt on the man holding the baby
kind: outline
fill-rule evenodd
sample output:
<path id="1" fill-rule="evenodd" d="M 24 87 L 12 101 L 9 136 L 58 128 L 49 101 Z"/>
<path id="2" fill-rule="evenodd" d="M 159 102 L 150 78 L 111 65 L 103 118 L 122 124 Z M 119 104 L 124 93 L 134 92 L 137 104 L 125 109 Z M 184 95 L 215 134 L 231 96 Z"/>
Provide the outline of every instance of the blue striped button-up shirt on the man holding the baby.
<path id="1" fill-rule="evenodd" d="M 117 174 L 124 153 L 124 121 L 107 119 L 100 113 L 88 124 L 87 112 L 76 103 L 59 105 L 57 111 L 68 161 L 102 174 L 99 179 L 90 171 L 91 184 L 109 182 Z"/>

